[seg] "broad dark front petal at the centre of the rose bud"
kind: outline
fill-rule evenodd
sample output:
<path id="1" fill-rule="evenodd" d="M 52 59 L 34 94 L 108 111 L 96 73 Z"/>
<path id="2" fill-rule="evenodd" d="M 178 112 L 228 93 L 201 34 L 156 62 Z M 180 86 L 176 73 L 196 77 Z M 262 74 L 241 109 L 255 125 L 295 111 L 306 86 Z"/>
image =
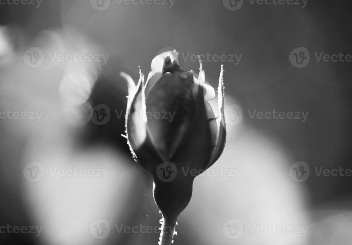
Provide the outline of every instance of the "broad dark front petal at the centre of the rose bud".
<path id="1" fill-rule="evenodd" d="M 147 97 L 147 131 L 164 161 L 170 161 L 194 116 L 193 87 L 193 76 L 166 73 Z"/>

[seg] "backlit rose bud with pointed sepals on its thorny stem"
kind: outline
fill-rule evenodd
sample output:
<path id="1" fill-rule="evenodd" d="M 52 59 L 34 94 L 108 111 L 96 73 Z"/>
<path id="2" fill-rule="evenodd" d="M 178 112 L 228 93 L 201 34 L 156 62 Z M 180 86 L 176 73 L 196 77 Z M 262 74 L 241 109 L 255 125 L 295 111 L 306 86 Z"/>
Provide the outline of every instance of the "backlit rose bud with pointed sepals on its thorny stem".
<path id="1" fill-rule="evenodd" d="M 135 161 L 154 178 L 153 196 L 163 215 L 159 244 L 172 243 L 178 215 L 191 199 L 194 177 L 220 157 L 226 138 L 222 65 L 215 118 L 207 101 L 215 92 L 205 81 L 201 61 L 197 76 L 181 70 L 177 57 L 176 51 L 156 56 L 146 82 L 139 71 L 137 87 L 121 73 L 128 82 L 127 142 Z M 163 67 L 157 59 L 164 59 Z M 156 82 L 149 90 L 152 80 Z"/>

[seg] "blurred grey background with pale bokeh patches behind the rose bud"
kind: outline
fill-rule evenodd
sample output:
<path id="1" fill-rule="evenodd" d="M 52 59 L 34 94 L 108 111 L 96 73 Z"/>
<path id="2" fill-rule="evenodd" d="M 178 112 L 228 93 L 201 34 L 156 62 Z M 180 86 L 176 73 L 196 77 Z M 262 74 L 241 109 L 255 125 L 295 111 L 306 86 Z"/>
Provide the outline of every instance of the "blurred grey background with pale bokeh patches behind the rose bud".
<path id="1" fill-rule="evenodd" d="M 275 3 L 0 0 L 1 244 L 157 244 L 142 227 L 161 219 L 152 177 L 120 135 L 120 72 L 136 82 L 173 49 L 184 70 L 209 54 L 214 87 L 224 64 L 237 113 L 211 167 L 227 174 L 195 178 L 174 244 L 351 244 L 351 3 Z M 273 110 L 285 116 L 253 114 Z"/>

